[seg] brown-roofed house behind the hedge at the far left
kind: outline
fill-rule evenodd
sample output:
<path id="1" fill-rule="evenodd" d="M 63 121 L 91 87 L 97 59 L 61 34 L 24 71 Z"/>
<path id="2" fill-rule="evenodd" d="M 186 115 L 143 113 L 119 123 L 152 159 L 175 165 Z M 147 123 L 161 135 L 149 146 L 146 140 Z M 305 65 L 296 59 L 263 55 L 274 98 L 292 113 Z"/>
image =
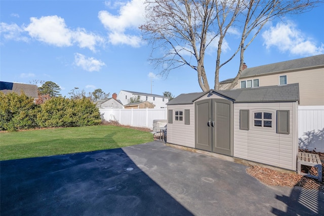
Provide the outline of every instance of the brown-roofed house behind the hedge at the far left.
<path id="1" fill-rule="evenodd" d="M 38 91 L 36 85 L 0 81 L 0 91 L 5 94 L 11 92 L 21 94 L 21 91 L 23 91 L 28 97 L 33 98 L 34 102 L 38 99 Z"/>

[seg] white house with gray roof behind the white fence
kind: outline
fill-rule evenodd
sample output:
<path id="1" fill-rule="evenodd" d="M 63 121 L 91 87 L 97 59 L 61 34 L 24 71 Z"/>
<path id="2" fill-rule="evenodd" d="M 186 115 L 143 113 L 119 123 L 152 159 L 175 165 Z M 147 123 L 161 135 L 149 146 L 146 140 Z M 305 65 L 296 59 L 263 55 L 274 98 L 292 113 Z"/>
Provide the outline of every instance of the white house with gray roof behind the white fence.
<path id="1" fill-rule="evenodd" d="M 150 103 L 153 103 L 155 105 L 155 109 L 166 108 L 166 103 L 169 102 L 169 98 L 165 96 L 135 91 L 120 90 L 120 92 L 117 95 L 117 99 L 120 100 L 124 106 L 129 104 L 129 100 L 132 97 L 136 97 L 141 101 L 148 101 Z"/>

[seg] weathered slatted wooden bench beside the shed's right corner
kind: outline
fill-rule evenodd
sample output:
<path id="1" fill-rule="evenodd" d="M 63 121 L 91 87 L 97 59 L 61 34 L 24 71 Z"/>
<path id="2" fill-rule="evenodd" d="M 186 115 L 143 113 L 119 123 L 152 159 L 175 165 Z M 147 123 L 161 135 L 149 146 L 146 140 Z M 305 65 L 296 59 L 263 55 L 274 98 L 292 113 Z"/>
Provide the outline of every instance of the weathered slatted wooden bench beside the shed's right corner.
<path id="1" fill-rule="evenodd" d="M 322 164 L 318 155 L 305 153 L 305 152 L 298 152 L 297 163 L 298 163 L 297 166 L 298 174 L 306 175 L 307 177 L 317 179 L 318 182 L 322 182 Z M 318 175 L 316 176 L 307 173 L 301 173 L 300 172 L 301 165 L 317 167 Z"/>

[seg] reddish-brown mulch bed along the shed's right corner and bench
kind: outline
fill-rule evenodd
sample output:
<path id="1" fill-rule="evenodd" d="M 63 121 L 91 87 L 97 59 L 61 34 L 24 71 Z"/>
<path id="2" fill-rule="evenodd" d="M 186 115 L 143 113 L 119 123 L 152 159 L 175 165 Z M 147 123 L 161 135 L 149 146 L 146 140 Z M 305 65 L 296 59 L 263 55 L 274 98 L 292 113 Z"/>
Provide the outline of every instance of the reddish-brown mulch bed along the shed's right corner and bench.
<path id="1" fill-rule="evenodd" d="M 324 173 L 324 153 L 315 151 L 299 150 L 300 152 L 307 152 L 311 154 L 319 155 L 322 163 L 322 173 Z M 317 175 L 317 168 L 302 165 L 301 171 L 312 175 Z M 272 170 L 261 166 L 252 166 L 247 168 L 247 173 L 257 178 L 260 182 L 269 186 L 281 186 L 281 187 L 302 187 L 305 189 L 313 189 L 318 191 L 324 191 L 324 183 L 319 183 L 317 179 L 306 177 L 295 173 L 285 173 Z"/>

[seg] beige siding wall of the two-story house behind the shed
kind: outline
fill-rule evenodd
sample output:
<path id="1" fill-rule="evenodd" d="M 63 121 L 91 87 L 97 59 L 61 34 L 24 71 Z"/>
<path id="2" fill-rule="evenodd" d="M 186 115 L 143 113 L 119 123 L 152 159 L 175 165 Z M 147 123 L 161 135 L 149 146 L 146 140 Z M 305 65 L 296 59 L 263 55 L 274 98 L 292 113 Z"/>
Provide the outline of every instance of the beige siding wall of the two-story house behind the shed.
<path id="1" fill-rule="evenodd" d="M 324 105 L 324 68 L 282 71 L 275 74 L 263 74 L 255 77 L 240 78 L 233 89 L 240 88 L 240 81 L 259 79 L 259 86 L 279 85 L 279 76 L 287 76 L 287 84 L 299 83 L 299 105 Z M 224 90 L 228 83 L 221 84 L 220 89 Z"/>

